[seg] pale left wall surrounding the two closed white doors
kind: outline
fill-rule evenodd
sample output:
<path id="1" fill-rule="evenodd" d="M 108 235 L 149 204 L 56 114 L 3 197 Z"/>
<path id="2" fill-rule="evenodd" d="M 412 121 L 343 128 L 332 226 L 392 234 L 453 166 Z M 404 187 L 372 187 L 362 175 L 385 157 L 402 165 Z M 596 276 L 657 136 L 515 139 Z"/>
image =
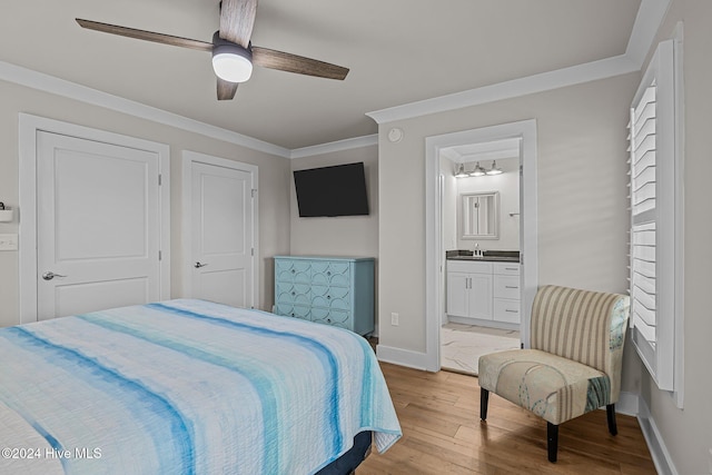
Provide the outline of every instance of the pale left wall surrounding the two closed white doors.
<path id="1" fill-rule="evenodd" d="M 0 81 L 0 201 L 18 207 L 20 112 L 63 120 L 170 146 L 171 176 L 171 296 L 181 296 L 180 261 L 180 160 L 181 150 L 192 150 L 259 167 L 260 307 L 271 308 L 273 268 L 266 256 L 289 250 L 289 160 L 245 147 L 187 132 L 149 120 L 115 112 L 76 100 Z M 19 209 L 21 219 L 22 209 Z M 12 222 L 0 222 L 0 234 L 17 234 Z M 19 323 L 18 253 L 0 251 L 0 326 Z"/>

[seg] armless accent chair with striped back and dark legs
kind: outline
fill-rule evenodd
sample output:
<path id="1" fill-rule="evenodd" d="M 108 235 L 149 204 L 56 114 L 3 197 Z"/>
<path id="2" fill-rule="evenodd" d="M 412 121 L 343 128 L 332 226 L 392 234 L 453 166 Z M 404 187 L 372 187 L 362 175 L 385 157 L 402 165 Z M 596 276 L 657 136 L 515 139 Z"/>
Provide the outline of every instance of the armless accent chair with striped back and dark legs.
<path id="1" fill-rule="evenodd" d="M 544 418 L 550 462 L 556 462 L 558 425 L 590 410 L 606 406 L 609 432 L 616 435 L 629 310 L 627 296 L 541 287 L 532 308 L 531 349 L 479 357 L 482 420 L 491 392 Z"/>

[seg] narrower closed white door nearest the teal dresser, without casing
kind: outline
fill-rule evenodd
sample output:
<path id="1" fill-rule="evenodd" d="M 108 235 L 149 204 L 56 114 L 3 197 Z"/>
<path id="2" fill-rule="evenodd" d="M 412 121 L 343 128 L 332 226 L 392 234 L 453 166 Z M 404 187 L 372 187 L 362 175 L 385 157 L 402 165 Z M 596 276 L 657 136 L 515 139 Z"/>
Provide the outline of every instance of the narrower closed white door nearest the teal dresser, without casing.
<path id="1" fill-rule="evenodd" d="M 253 174 L 190 162 L 190 287 L 195 298 L 255 306 Z"/>

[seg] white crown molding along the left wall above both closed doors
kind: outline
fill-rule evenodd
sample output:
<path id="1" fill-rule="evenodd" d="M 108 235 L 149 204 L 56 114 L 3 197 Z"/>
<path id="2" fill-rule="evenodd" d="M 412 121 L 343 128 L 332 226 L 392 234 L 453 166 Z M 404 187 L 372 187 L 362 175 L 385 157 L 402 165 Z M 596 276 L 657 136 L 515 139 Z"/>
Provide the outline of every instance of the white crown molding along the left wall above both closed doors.
<path id="1" fill-rule="evenodd" d="M 265 154 L 276 155 L 284 158 L 290 157 L 290 150 L 287 148 L 9 62 L 0 61 L 0 80 L 14 82 L 20 86 L 62 96 L 92 106 L 103 107 L 117 112 L 176 127 L 189 132 L 200 133 L 206 137 L 247 147 Z"/>

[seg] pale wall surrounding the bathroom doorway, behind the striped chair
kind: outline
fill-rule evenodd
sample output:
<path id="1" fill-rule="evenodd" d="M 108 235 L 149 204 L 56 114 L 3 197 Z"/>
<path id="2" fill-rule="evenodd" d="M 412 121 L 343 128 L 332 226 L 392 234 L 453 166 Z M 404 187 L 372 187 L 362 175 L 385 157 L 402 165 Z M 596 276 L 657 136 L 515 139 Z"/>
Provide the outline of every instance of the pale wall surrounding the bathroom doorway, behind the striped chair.
<path id="1" fill-rule="evenodd" d="M 425 352 L 425 138 L 536 119 L 538 283 L 625 293 L 627 107 L 632 73 L 511 100 L 379 125 L 380 345 Z M 392 144 L 386 133 L 402 128 Z M 394 184 L 398 184 L 397 187 Z M 403 239 L 402 236 L 407 236 Z M 630 348 L 623 390 L 640 388 Z"/>

